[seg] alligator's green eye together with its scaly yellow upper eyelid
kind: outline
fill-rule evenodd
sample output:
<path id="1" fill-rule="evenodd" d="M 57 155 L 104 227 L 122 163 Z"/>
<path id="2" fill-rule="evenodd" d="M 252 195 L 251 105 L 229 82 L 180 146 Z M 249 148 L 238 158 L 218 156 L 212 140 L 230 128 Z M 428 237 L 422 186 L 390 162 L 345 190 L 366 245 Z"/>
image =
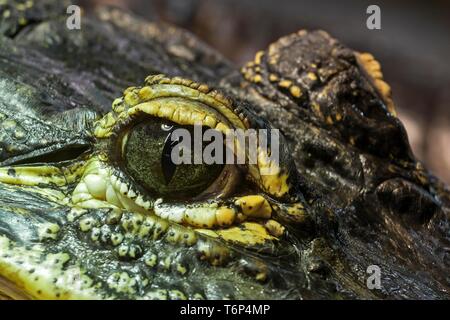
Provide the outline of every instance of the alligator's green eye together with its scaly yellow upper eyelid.
<path id="1" fill-rule="evenodd" d="M 93 128 L 93 136 L 99 142 L 98 158 L 109 166 L 114 178 L 111 181 L 114 186 L 105 193 L 111 198 L 108 201 L 121 205 L 114 198 L 114 191 L 128 198 L 135 197 L 141 203 L 138 206 L 144 208 L 158 200 L 162 200 L 158 203 L 189 200 L 193 205 L 203 203 L 203 207 L 209 208 L 214 199 L 225 203 L 231 196 L 241 195 L 243 186 L 245 192 L 251 187 L 252 191 L 267 192 L 276 198 L 287 197 L 289 170 L 279 166 L 278 152 L 267 152 L 264 134 L 259 136 L 261 131 L 269 132 L 271 138 L 278 134 L 272 134 L 263 121 L 250 121 L 245 106 L 245 103 L 233 106 L 229 98 L 207 85 L 164 75 L 149 76 L 144 86 L 126 89 L 122 97 L 114 100 L 112 111 Z M 196 137 L 198 125 L 208 130 L 206 136 Z M 219 145 L 216 138 L 221 137 L 218 150 L 223 152 L 211 157 L 212 162 L 202 157 L 194 164 L 176 165 L 172 150 L 178 141 L 172 137 L 177 129 L 191 133 L 191 160 L 195 152 L 198 155 L 199 140 L 200 152 L 208 155 L 211 153 L 207 149 L 216 150 L 211 144 Z M 184 135 L 175 134 L 178 136 L 184 141 Z M 187 143 L 183 144 L 186 147 Z M 217 162 L 221 157 L 225 159 Z M 182 158 L 186 159 L 184 155 Z M 127 190 L 131 190 L 131 196 Z"/>

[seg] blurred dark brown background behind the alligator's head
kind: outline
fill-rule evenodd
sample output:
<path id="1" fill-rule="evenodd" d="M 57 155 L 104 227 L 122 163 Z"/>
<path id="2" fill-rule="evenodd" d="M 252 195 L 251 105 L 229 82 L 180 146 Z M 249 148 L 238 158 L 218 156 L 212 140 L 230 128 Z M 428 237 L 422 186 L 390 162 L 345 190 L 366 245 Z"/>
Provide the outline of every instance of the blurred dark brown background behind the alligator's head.
<path id="1" fill-rule="evenodd" d="M 240 66 L 280 36 L 324 29 L 381 62 L 416 156 L 450 183 L 450 1 L 80 0 L 188 29 Z M 366 8 L 381 8 L 381 30 Z"/>

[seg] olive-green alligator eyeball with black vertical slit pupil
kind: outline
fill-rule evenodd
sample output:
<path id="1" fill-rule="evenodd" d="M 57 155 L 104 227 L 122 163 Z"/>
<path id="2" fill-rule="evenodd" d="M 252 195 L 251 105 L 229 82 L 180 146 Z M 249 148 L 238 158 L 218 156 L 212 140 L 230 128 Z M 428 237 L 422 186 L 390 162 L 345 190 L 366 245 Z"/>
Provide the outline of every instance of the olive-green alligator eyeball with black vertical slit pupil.
<path id="1" fill-rule="evenodd" d="M 172 151 L 180 143 L 175 129 L 190 133 L 190 164 L 175 164 Z M 205 128 L 202 128 L 205 130 Z M 198 137 L 197 137 L 198 138 Z M 207 190 L 221 175 L 224 165 L 194 163 L 194 127 L 147 118 L 131 127 L 122 138 L 122 164 L 125 171 L 148 192 L 168 199 L 193 198 Z M 222 162 L 223 163 L 223 162 Z"/>

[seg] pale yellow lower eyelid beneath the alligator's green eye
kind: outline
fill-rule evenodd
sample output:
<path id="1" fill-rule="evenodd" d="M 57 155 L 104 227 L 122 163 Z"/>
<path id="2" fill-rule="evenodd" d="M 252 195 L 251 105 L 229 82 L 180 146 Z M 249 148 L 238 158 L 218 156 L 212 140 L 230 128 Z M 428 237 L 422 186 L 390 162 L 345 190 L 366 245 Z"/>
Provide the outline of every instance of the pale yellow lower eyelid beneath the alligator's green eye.
<path id="1" fill-rule="evenodd" d="M 73 193 L 73 199 L 83 207 L 94 205 L 99 208 L 118 207 L 121 210 L 141 213 L 144 216 L 157 216 L 166 221 L 189 226 L 199 233 L 213 237 L 223 237 L 225 240 L 241 241 L 243 243 L 280 237 L 284 227 L 272 220 L 272 206 L 262 195 L 250 195 L 228 198 L 226 201 L 174 203 L 158 199 L 144 200 L 144 197 L 112 173 L 101 161 L 92 161 L 91 168 L 84 176 Z M 77 192 L 78 190 L 78 192 Z M 107 193 L 113 192 L 117 201 L 109 204 Z M 210 232 L 210 233 L 208 233 Z M 237 238 L 235 238 L 237 236 Z"/>

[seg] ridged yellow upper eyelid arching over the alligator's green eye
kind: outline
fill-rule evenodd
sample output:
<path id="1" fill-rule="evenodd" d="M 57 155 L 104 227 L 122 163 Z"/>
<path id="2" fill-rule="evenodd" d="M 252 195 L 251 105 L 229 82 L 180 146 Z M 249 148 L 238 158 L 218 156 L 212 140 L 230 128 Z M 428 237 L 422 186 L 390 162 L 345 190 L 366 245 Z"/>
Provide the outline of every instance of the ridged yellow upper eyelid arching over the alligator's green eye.
<path id="1" fill-rule="evenodd" d="M 177 107 L 169 105 L 156 107 L 158 101 L 165 99 L 168 99 L 166 102 L 180 99 L 178 100 L 180 105 L 185 101 L 184 109 L 178 111 L 178 118 L 173 117 Z M 145 106 L 145 103 L 151 106 Z M 247 128 L 245 119 L 242 119 L 243 114 L 237 115 L 231 102 L 221 93 L 210 90 L 206 85 L 177 77 L 171 79 L 161 75 L 147 77 L 143 87 L 126 89 L 124 95 L 113 102 L 112 109 L 96 123 L 94 135 L 97 138 L 110 136 L 116 123 L 125 121 L 130 115 L 143 109 L 151 116 L 162 117 L 182 125 L 193 125 L 195 120 L 198 120 L 219 131 L 226 131 L 231 127 Z"/>

